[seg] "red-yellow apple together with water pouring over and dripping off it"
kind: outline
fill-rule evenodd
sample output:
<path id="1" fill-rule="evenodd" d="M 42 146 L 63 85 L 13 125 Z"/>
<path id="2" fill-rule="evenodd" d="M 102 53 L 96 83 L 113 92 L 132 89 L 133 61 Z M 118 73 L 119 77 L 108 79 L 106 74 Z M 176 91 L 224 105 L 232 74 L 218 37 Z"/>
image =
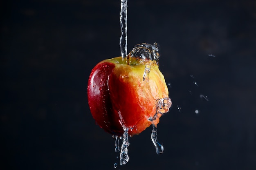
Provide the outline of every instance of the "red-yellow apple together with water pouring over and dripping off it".
<path id="1" fill-rule="evenodd" d="M 123 3 L 123 4 L 122 4 Z M 126 4 L 124 4 L 126 3 Z M 120 165 L 128 162 L 128 137 L 151 124 L 151 139 L 157 154 L 157 124 L 171 107 L 164 76 L 159 71 L 157 44 L 137 44 L 127 55 L 127 0 L 121 1 L 121 57 L 99 62 L 88 81 L 88 104 L 97 124 L 115 138 Z M 126 18 L 126 19 L 124 19 Z M 124 36 L 125 34 L 125 36 Z M 116 168 L 117 163 L 115 163 Z"/>

